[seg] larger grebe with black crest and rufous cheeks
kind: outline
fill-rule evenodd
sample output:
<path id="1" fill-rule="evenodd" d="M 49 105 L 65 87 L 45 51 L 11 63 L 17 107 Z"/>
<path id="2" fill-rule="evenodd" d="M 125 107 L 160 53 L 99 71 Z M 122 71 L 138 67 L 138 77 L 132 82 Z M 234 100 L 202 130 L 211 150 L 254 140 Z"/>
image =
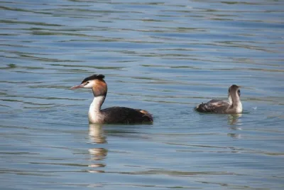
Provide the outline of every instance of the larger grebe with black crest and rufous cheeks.
<path id="1" fill-rule="evenodd" d="M 107 83 L 104 81 L 104 75 L 89 76 L 80 85 L 75 85 L 71 89 L 77 88 L 92 88 L 94 100 L 89 106 L 89 123 L 134 124 L 153 122 L 152 115 L 146 110 L 129 107 L 109 107 L 101 110 L 107 96 Z"/>

